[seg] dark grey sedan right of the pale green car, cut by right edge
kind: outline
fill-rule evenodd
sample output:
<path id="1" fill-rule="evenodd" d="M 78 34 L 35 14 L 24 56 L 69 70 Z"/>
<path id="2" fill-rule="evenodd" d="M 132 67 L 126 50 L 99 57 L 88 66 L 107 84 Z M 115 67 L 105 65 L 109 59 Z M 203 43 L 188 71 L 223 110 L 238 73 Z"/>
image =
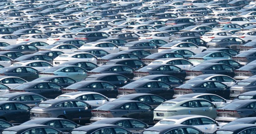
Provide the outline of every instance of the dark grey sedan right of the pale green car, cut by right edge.
<path id="1" fill-rule="evenodd" d="M 232 122 L 239 118 L 255 117 L 256 100 L 241 100 L 217 109 L 216 121 Z"/>

